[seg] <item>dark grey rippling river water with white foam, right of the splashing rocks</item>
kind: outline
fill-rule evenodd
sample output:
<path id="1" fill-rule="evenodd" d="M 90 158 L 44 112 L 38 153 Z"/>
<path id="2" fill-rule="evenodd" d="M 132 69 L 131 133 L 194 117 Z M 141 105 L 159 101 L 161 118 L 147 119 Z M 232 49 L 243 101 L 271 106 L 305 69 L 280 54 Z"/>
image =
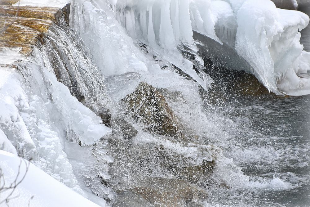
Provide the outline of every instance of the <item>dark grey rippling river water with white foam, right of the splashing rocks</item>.
<path id="1" fill-rule="evenodd" d="M 310 206 L 310 96 L 237 96 L 216 110 L 236 124 L 216 144 L 249 180 L 208 205 Z"/>

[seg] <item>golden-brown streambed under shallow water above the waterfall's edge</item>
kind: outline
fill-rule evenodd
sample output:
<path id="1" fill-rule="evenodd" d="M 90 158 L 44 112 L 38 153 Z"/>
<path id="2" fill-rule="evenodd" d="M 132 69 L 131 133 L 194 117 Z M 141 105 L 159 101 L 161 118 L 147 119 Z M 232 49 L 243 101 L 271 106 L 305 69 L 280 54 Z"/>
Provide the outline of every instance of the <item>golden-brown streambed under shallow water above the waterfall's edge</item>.
<path id="1" fill-rule="evenodd" d="M 4 28 L 0 34 L 0 48 L 20 47 L 20 52 L 29 55 L 60 11 L 48 7 L 0 6 L 0 28 Z"/>

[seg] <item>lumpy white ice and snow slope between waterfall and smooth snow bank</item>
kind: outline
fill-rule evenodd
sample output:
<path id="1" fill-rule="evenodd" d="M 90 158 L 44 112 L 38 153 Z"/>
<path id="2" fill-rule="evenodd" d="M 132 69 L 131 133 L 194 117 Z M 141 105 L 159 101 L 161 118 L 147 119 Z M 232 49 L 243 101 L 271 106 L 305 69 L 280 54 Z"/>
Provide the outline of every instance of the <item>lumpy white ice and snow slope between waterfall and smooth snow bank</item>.
<path id="1" fill-rule="evenodd" d="M 0 149 L 32 159 L 53 178 L 85 195 L 63 151 L 64 142 L 70 138 L 91 145 L 111 129 L 56 80 L 48 62 L 44 66 L 47 60 L 42 54 L 22 56 L 19 48 L 0 52 Z M 24 76 L 7 64 L 19 64 Z"/>

